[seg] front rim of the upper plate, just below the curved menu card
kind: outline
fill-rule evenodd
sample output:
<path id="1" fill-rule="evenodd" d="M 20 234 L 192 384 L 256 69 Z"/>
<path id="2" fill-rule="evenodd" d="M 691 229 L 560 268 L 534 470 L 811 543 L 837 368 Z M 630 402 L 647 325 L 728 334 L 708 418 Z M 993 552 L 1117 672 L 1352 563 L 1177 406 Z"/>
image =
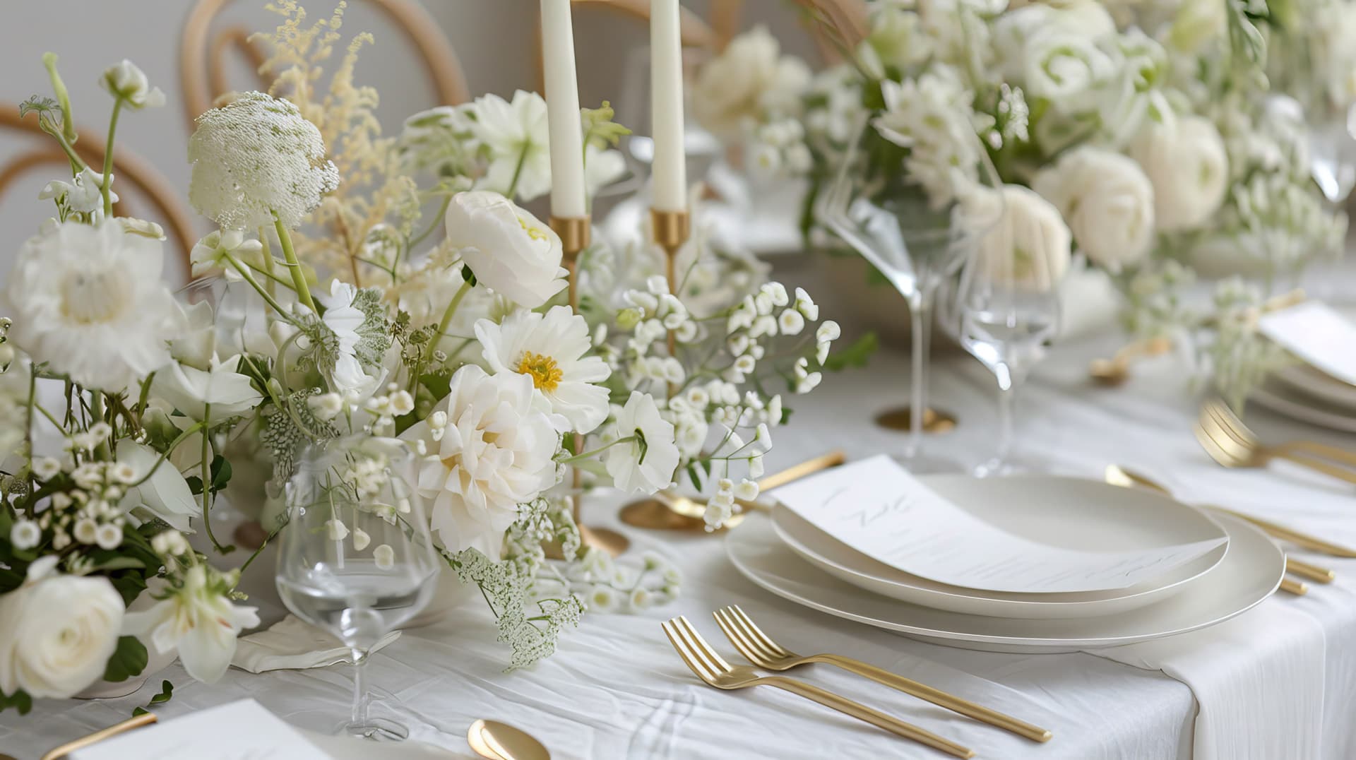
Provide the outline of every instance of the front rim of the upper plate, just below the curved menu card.
<path id="1" fill-rule="evenodd" d="M 929 479 L 929 482 L 932 482 Z M 1124 489 L 1123 489 L 1124 490 Z M 1181 505 L 1181 509 L 1192 509 Z M 1111 592 L 1005 593 L 938 584 L 872 559 L 816 528 L 795 512 L 773 510 L 773 529 L 800 556 L 820 570 L 872 593 L 934 609 L 994 618 L 1094 618 L 1125 612 L 1168 598 L 1224 559 L 1229 544 L 1176 567 L 1163 577 Z"/>

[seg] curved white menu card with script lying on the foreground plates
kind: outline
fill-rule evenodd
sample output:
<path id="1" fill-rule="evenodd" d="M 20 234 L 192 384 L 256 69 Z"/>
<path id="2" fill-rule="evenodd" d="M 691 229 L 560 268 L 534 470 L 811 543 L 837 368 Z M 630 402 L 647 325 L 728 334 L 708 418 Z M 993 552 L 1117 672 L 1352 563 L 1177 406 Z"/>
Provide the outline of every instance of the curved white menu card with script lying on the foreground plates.
<path id="1" fill-rule="evenodd" d="M 1124 589 L 1229 539 L 1139 551 L 1079 551 L 1009 533 L 951 504 L 888 456 L 845 464 L 772 495 L 820 531 L 891 567 L 967 589 Z"/>

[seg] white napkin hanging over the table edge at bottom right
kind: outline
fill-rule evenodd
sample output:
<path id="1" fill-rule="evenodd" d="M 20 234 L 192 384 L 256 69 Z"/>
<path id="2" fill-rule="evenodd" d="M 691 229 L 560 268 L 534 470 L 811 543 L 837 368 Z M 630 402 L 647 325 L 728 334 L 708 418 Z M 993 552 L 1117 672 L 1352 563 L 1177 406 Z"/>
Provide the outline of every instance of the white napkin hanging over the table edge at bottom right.
<path id="1" fill-rule="evenodd" d="M 1291 601 L 1281 594 L 1219 626 L 1090 654 L 1191 687 L 1195 760 L 1319 757 L 1328 647 Z"/>

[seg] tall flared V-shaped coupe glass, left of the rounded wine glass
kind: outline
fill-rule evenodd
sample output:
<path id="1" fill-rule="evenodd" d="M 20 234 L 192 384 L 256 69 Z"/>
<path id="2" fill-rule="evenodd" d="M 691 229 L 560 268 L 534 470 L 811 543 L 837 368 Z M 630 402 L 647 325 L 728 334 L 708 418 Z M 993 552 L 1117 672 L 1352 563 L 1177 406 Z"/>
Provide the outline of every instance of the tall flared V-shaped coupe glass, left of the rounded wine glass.
<path id="1" fill-rule="evenodd" d="M 872 263 L 909 304 L 911 327 L 911 383 L 909 441 L 899 457 L 915 472 L 952 470 L 946 461 L 922 456 L 928 414 L 928 362 L 932 312 L 937 288 L 953 277 L 975 248 L 976 240 L 1003 213 L 1002 182 L 989 153 L 974 132 L 956 136 L 972 140 L 974 176 L 955 172 L 952 200 L 937 204 L 909 182 L 904 167 L 894 176 L 868 178 L 876 159 L 871 148 L 884 142 L 875 126 L 862 124 L 846 156 L 820 193 L 815 216 L 837 238 Z M 866 157 L 858 152 L 866 148 Z M 984 202 L 971 202 L 983 195 Z M 879 418 L 877 418 L 879 419 Z"/>

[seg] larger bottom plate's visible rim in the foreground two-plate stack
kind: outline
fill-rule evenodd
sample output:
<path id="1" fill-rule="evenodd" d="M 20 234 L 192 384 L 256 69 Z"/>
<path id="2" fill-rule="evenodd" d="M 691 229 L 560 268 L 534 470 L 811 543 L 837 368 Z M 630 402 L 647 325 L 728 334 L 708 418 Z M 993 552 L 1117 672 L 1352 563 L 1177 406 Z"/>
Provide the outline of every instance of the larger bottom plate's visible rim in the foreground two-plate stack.
<path id="1" fill-rule="evenodd" d="M 1169 598 L 1116 615 L 1056 620 L 991 618 L 929 609 L 883 597 L 810 565 L 750 514 L 725 539 L 725 554 L 750 581 L 829 615 L 911 638 L 987 651 L 1077 651 L 1135 643 L 1222 623 L 1271 596 L 1285 574 L 1285 555 L 1261 531 L 1219 516 L 1229 532 L 1223 562 Z"/>

